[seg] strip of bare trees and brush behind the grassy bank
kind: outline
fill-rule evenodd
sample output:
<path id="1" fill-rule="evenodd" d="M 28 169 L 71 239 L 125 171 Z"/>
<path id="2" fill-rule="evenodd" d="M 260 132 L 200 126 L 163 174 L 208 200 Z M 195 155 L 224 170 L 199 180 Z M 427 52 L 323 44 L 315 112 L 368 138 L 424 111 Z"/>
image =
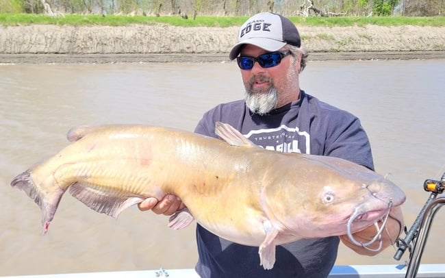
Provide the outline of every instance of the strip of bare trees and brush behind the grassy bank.
<path id="1" fill-rule="evenodd" d="M 2 1 L 2 0 L 0 0 Z M 3 0 L 19 1 L 23 12 L 58 12 L 73 14 L 99 12 L 127 14 L 151 10 L 156 16 L 162 13 L 196 18 L 196 14 L 218 16 L 251 16 L 257 12 L 279 12 L 284 16 L 366 16 L 379 14 L 377 2 L 397 2 L 394 7 L 404 16 L 437 16 L 445 13 L 444 0 Z M 379 3 L 380 3 L 379 2 Z M 390 11 L 391 12 L 391 11 Z M 148 14 L 148 12 L 147 12 Z"/>

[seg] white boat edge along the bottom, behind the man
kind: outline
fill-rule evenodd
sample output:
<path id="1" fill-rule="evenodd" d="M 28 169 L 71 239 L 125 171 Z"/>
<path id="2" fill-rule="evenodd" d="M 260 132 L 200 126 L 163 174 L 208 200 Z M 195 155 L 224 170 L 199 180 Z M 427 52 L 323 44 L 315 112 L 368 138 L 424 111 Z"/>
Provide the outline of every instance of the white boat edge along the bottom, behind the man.
<path id="1" fill-rule="evenodd" d="M 403 264 L 370 264 L 370 265 L 336 265 L 331 270 L 329 278 L 371 278 L 371 277 L 405 277 L 407 266 Z M 48 275 L 22 275 L 2 276 L 3 278 L 147 278 L 147 277 L 169 277 L 169 278 L 199 278 L 194 269 L 164 269 L 159 270 L 130 270 L 109 271 L 95 273 L 66 273 Z M 420 264 L 418 278 L 445 277 L 445 264 Z"/>

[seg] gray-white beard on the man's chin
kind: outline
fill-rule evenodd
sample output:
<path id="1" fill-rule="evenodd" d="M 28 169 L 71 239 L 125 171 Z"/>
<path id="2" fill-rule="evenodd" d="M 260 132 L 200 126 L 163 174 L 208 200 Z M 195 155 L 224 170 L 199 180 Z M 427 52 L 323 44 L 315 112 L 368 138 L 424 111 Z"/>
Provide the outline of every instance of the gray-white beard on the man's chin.
<path id="1" fill-rule="evenodd" d="M 255 114 L 261 116 L 272 111 L 278 103 L 278 92 L 275 87 L 270 87 L 267 92 L 253 92 L 246 90 L 244 94 L 247 107 Z"/>

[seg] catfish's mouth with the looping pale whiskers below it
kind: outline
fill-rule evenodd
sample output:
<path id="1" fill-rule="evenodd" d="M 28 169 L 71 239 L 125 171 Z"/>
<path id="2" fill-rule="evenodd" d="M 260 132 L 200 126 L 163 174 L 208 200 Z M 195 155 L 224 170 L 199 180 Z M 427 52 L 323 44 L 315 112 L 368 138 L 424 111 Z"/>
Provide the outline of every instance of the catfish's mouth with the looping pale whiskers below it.
<path id="1" fill-rule="evenodd" d="M 359 205 L 358 207 L 355 207 L 355 210 L 353 212 L 353 214 L 351 214 L 351 216 L 349 217 L 348 220 L 348 225 L 346 226 L 347 229 L 347 235 L 349 240 L 351 240 L 351 242 L 353 242 L 353 244 L 360 246 L 360 247 L 364 247 L 365 249 L 368 249 L 370 251 L 379 251 L 381 249 L 381 233 L 383 233 L 383 231 L 385 230 L 385 225 L 386 225 L 386 221 L 387 218 L 390 216 L 390 210 L 392 208 L 393 204 L 392 201 L 389 201 L 387 203 L 387 208 L 385 210 L 372 210 L 370 212 L 363 212 L 363 208 L 361 205 Z M 382 212 L 384 212 L 382 214 Z M 381 218 L 379 218 L 379 216 L 383 216 Z M 368 242 L 359 242 L 357 241 L 352 233 L 352 226 L 355 222 L 360 222 L 360 221 L 364 221 L 364 222 L 369 222 L 369 220 L 371 219 L 375 219 L 374 222 L 374 227 L 376 227 L 377 229 L 377 233 L 374 236 L 374 238 L 372 238 L 370 241 Z M 377 224 L 377 222 L 381 221 L 382 225 L 381 227 L 379 227 L 379 225 Z M 370 249 L 368 246 L 370 244 L 373 244 L 374 242 L 376 242 L 376 240 L 380 241 L 379 247 L 377 247 L 377 249 Z"/>

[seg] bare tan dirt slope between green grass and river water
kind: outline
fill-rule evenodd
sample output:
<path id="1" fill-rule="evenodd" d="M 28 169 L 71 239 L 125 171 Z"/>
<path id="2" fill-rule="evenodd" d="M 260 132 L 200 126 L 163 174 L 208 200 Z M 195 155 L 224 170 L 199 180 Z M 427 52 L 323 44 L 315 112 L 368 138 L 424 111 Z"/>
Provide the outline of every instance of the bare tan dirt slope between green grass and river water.
<path id="1" fill-rule="evenodd" d="M 298 27 L 314 60 L 445 58 L 445 27 Z M 238 27 L 0 27 L 0 63 L 214 62 Z"/>

